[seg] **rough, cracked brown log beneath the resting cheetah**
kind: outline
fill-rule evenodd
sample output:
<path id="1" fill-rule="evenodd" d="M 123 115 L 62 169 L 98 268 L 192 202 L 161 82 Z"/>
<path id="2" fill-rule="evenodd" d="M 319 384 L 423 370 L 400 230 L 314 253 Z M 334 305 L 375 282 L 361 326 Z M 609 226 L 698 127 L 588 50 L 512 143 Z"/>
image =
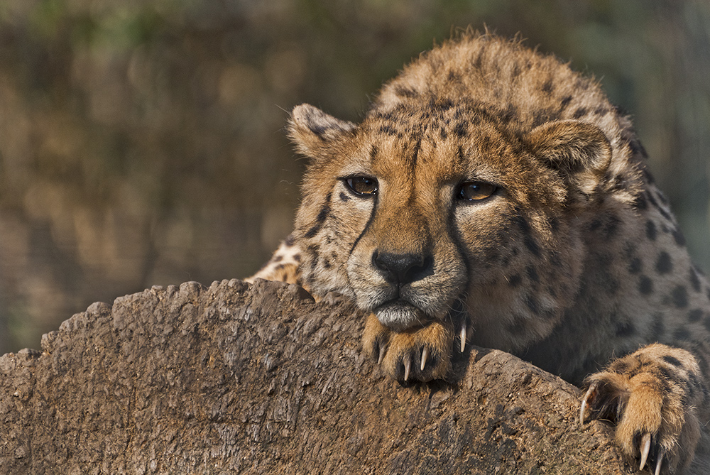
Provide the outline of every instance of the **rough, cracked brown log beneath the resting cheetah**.
<path id="1" fill-rule="evenodd" d="M 0 473 L 635 473 L 577 388 L 484 349 L 400 385 L 326 300 L 225 280 L 91 305 L 0 357 Z"/>

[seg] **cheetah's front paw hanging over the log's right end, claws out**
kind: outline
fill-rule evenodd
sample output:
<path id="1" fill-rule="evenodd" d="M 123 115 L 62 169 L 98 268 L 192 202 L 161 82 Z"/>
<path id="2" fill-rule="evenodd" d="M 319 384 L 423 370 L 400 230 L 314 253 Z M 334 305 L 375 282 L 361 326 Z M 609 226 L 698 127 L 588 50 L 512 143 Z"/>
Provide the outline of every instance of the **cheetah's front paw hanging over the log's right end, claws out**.
<path id="1" fill-rule="evenodd" d="M 580 422 L 616 423 L 616 442 L 629 457 L 648 462 L 655 475 L 674 474 L 692 461 L 700 437 L 694 413 L 702 394 L 699 368 L 689 352 L 662 344 L 645 346 L 586 378 Z"/>

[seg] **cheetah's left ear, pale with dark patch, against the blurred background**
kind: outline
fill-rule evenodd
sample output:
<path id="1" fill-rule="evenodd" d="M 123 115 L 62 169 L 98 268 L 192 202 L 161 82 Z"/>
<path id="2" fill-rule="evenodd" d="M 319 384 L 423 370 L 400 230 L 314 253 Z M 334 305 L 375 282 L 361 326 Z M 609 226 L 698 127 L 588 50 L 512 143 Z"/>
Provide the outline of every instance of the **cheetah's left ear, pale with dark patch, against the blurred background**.
<path id="1" fill-rule="evenodd" d="M 352 122 L 336 119 L 310 104 L 300 104 L 291 112 L 288 133 L 300 153 L 315 158 L 330 142 L 351 133 L 355 127 Z"/>

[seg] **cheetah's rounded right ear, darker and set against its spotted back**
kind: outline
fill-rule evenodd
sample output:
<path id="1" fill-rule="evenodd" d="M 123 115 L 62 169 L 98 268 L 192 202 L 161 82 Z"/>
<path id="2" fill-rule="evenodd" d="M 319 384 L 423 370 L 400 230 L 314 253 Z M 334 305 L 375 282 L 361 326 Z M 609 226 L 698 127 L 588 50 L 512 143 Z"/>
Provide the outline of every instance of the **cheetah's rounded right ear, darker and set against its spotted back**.
<path id="1" fill-rule="evenodd" d="M 556 121 L 532 129 L 532 150 L 577 190 L 591 195 L 611 163 L 611 144 L 594 124 Z"/>

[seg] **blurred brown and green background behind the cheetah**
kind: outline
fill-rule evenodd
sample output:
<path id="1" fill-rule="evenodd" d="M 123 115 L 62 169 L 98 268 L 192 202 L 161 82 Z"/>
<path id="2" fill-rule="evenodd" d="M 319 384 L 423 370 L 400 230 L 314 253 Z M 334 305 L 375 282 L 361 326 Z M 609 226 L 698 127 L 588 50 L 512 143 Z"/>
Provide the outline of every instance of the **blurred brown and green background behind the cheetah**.
<path id="1" fill-rule="evenodd" d="M 601 80 L 710 271 L 707 0 L 2 0 L 0 354 L 97 300 L 256 271 L 298 205 L 288 111 L 356 121 L 468 25 Z"/>

